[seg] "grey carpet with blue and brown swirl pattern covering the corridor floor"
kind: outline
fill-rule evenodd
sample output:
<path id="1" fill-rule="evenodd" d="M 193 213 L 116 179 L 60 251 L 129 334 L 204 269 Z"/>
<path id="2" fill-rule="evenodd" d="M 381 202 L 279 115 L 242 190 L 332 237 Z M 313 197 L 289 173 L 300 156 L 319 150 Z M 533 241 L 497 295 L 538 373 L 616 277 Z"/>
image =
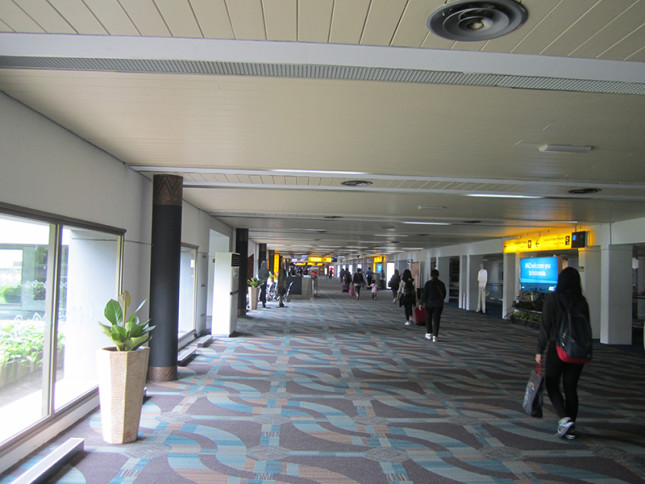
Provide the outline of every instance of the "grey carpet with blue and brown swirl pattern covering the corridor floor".
<path id="1" fill-rule="evenodd" d="M 55 482 L 645 481 L 642 352 L 597 345 L 565 441 L 548 398 L 542 419 L 521 408 L 535 329 L 447 307 L 432 343 L 389 291 L 356 301 L 328 280 L 316 299 L 269 306 L 178 381 L 148 385 L 137 442 L 103 443 L 98 412 L 61 435 L 85 451 Z"/>

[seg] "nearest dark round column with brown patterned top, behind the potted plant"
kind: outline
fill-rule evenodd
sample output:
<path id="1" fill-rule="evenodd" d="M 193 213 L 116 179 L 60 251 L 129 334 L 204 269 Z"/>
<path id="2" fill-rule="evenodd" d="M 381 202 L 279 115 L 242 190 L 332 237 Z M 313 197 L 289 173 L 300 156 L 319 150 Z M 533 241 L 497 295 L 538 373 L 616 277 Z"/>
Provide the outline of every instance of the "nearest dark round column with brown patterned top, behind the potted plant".
<path id="1" fill-rule="evenodd" d="M 155 175 L 153 189 L 148 378 L 159 382 L 177 379 L 183 178 Z"/>

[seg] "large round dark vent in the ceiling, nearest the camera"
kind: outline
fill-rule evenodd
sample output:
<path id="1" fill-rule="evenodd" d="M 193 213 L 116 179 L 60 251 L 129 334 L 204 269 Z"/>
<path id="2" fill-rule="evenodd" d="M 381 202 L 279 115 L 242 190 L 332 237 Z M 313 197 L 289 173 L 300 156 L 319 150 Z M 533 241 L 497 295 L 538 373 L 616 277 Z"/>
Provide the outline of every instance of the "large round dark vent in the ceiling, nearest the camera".
<path id="1" fill-rule="evenodd" d="M 506 35 L 527 18 L 515 0 L 455 0 L 428 17 L 428 28 L 446 39 L 475 42 Z"/>

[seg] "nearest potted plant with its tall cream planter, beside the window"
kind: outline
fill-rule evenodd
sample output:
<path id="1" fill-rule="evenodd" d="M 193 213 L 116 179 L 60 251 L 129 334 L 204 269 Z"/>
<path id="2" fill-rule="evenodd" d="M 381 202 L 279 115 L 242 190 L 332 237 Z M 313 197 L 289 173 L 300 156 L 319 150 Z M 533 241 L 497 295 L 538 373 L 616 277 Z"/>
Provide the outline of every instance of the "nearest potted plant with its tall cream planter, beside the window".
<path id="1" fill-rule="evenodd" d="M 150 354 L 150 348 L 143 345 L 154 329 L 149 320 L 141 322 L 137 316 L 146 301 L 128 316 L 130 301 L 128 291 L 118 301 L 110 299 L 104 311 L 110 324 L 99 323 L 114 343 L 98 351 L 103 439 L 111 444 L 137 439 Z"/>

